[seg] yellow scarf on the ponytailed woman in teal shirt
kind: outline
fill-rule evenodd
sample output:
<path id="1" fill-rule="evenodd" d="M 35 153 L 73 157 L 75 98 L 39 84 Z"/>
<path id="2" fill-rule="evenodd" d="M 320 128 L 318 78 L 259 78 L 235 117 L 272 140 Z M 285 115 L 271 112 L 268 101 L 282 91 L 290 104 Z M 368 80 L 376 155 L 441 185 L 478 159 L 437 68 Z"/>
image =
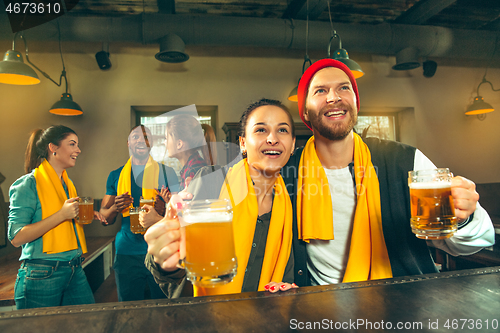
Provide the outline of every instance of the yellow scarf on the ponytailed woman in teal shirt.
<path id="1" fill-rule="evenodd" d="M 66 170 L 62 173 L 62 179 L 68 187 L 70 198 L 75 198 L 75 185 L 68 178 Z M 42 206 L 42 220 L 58 212 L 68 200 L 61 180 L 57 176 L 54 168 L 47 160 L 44 160 L 38 168 L 35 169 L 36 190 L 38 199 Z M 43 237 L 43 252 L 44 253 L 61 253 L 70 250 L 78 249 L 78 241 L 75 235 L 74 222 L 66 220 L 47 231 Z M 87 243 L 85 242 L 85 234 L 83 226 L 76 223 L 76 231 L 78 239 L 82 246 L 83 253 L 87 252 Z"/>

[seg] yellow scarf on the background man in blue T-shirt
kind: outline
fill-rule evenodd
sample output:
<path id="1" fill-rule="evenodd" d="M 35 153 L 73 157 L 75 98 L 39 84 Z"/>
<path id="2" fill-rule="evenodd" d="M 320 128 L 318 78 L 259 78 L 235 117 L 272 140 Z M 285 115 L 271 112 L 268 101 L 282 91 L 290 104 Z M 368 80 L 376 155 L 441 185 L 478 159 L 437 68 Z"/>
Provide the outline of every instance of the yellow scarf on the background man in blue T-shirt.
<path id="1" fill-rule="evenodd" d="M 132 184 L 131 177 L 132 174 L 132 161 L 129 158 L 127 163 L 123 166 L 120 172 L 120 178 L 118 178 L 118 188 L 116 189 L 117 195 L 121 195 L 125 192 L 132 195 Z M 142 197 L 145 199 L 154 199 L 156 197 L 156 188 L 158 188 L 158 177 L 160 175 L 160 166 L 149 156 L 146 166 L 144 167 L 144 173 L 142 176 Z M 129 216 L 129 208 L 133 207 L 134 204 L 131 203 L 129 207 L 122 211 L 123 217 Z"/>

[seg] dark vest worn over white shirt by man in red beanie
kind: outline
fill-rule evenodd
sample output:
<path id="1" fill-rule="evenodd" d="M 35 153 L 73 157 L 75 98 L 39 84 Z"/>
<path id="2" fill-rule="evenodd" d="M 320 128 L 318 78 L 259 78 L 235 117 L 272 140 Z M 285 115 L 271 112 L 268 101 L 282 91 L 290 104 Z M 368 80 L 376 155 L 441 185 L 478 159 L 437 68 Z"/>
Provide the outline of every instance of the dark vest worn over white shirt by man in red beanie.
<path id="1" fill-rule="evenodd" d="M 414 147 L 394 141 L 367 138 L 372 163 L 380 183 L 382 227 L 392 274 L 396 276 L 436 273 L 436 266 L 424 240 L 418 239 L 410 228 L 410 193 L 408 171 L 413 170 Z M 297 173 L 303 148 L 297 149 L 282 170 L 293 205 L 293 251 L 295 283 L 310 285 L 307 271 L 306 243 L 297 238 L 296 188 Z"/>

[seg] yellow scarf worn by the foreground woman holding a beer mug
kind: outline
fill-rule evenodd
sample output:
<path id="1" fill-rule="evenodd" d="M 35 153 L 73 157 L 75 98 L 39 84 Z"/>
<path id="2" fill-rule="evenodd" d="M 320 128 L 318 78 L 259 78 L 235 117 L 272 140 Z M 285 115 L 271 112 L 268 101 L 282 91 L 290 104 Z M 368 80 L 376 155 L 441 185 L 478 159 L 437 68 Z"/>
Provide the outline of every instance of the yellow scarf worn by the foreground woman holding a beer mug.
<path id="1" fill-rule="evenodd" d="M 243 193 L 244 198 L 238 198 Z M 252 242 L 257 223 L 259 206 L 253 188 L 246 159 L 238 162 L 227 173 L 226 186 L 219 198 L 230 199 L 233 204 L 233 231 L 238 271 L 233 281 L 215 288 L 194 287 L 195 296 L 240 293 L 245 269 L 252 250 Z M 242 199 L 240 201 L 240 199 Z M 266 252 L 262 263 L 258 290 L 271 282 L 283 280 L 285 267 L 292 247 L 292 203 L 281 175 L 274 183 L 274 200 Z"/>

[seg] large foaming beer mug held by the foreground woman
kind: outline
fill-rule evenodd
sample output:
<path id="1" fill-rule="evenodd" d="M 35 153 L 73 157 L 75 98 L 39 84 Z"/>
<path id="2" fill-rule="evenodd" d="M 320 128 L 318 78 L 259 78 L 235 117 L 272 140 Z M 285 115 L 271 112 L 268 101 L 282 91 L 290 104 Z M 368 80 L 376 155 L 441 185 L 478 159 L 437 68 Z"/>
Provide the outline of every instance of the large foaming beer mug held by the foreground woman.
<path id="1" fill-rule="evenodd" d="M 178 216 L 186 235 L 186 257 L 180 264 L 188 280 L 199 287 L 231 282 L 238 267 L 231 203 L 195 200 L 187 203 Z"/>

